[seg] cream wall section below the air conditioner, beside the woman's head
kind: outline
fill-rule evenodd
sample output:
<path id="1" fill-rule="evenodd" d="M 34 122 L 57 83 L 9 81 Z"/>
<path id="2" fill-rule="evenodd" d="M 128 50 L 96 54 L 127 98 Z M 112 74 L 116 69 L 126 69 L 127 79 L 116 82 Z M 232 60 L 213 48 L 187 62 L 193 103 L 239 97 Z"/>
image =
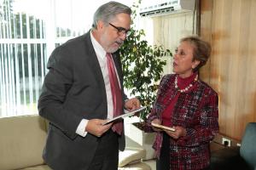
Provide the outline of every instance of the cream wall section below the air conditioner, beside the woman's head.
<path id="1" fill-rule="evenodd" d="M 182 37 L 195 34 L 196 18 L 193 15 L 191 11 L 153 17 L 154 44 L 161 44 L 164 48 L 171 49 L 174 54 Z M 164 74 L 172 73 L 172 58 L 166 59 Z"/>

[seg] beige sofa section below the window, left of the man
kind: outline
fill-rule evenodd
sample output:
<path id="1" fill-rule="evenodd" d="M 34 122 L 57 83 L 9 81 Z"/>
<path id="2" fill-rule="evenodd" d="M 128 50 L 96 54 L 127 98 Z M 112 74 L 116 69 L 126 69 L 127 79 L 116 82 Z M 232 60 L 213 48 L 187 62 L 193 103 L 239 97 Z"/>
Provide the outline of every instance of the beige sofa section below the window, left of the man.
<path id="1" fill-rule="evenodd" d="M 0 169 L 20 169 L 44 164 L 47 136 L 44 118 L 38 115 L 0 118 Z"/>

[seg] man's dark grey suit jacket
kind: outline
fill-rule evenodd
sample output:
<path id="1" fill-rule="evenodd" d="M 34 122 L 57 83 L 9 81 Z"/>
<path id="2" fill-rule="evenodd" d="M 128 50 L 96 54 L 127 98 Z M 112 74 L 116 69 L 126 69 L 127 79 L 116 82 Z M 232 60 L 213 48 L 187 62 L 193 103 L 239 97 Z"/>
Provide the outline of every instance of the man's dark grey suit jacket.
<path id="1" fill-rule="evenodd" d="M 113 54 L 119 80 L 122 71 L 119 54 Z M 76 132 L 84 119 L 107 118 L 107 96 L 102 71 L 90 40 L 90 32 L 55 48 L 49 57 L 49 72 L 38 100 L 40 116 L 49 120 L 44 160 L 60 170 L 87 169 L 97 147 L 97 138 Z M 122 87 L 122 93 L 125 94 Z M 119 150 L 125 149 L 124 133 Z"/>

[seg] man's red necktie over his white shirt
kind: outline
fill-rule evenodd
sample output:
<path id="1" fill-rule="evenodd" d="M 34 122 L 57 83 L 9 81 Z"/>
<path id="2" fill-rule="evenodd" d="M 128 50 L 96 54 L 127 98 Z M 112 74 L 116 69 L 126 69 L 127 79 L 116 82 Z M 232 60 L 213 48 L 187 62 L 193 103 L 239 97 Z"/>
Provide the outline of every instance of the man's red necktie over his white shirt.
<path id="1" fill-rule="evenodd" d="M 111 54 L 106 54 L 107 63 L 108 63 L 108 76 L 111 87 L 112 99 L 113 99 L 113 117 L 119 116 L 122 113 L 123 105 L 122 105 L 122 94 L 119 88 L 119 81 L 117 78 L 117 74 L 115 72 L 113 66 L 113 60 L 111 59 Z M 123 122 L 116 122 L 112 127 L 113 132 L 122 133 L 123 130 Z"/>

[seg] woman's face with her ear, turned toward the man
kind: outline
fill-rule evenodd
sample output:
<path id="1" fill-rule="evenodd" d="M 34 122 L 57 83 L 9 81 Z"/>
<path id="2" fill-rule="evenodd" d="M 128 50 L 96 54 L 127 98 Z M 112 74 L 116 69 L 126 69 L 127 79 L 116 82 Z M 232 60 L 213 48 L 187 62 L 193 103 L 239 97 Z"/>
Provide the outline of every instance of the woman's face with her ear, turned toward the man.
<path id="1" fill-rule="evenodd" d="M 172 71 L 180 77 L 189 77 L 200 61 L 193 60 L 194 46 L 190 42 L 181 42 L 174 54 Z"/>

